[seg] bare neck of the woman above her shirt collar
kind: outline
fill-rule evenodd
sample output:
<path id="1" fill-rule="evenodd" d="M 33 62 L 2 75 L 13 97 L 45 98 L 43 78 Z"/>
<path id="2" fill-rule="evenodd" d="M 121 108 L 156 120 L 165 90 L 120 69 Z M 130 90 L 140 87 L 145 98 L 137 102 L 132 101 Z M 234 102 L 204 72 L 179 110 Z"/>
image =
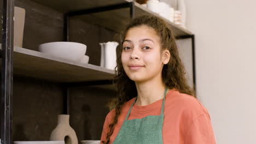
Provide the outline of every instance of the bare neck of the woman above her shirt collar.
<path id="1" fill-rule="evenodd" d="M 161 80 L 152 79 L 147 82 L 135 82 L 138 98 L 136 105 L 144 106 L 164 98 L 165 86 Z"/>

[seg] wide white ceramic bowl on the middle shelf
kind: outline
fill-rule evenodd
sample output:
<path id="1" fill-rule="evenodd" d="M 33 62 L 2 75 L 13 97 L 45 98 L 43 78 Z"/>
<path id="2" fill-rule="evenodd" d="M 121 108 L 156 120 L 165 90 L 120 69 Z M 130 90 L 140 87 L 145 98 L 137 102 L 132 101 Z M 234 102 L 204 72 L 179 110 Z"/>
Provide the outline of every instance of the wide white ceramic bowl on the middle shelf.
<path id="1" fill-rule="evenodd" d="M 55 57 L 62 57 L 71 61 L 80 61 L 86 52 L 86 45 L 74 42 L 52 42 L 40 44 L 40 52 L 48 53 Z"/>

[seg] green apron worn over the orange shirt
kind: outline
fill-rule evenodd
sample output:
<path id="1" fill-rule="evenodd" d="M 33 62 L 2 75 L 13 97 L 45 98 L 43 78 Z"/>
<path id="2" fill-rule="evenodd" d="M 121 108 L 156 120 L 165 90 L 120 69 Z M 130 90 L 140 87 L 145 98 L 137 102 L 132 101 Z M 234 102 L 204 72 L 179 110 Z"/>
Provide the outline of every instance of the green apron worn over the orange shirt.
<path id="1" fill-rule="evenodd" d="M 167 88 L 165 88 L 164 100 L 162 101 L 161 115 L 127 120 L 132 106 L 138 98 L 136 97 L 113 144 L 162 144 L 162 124 L 164 122 L 166 92 Z"/>

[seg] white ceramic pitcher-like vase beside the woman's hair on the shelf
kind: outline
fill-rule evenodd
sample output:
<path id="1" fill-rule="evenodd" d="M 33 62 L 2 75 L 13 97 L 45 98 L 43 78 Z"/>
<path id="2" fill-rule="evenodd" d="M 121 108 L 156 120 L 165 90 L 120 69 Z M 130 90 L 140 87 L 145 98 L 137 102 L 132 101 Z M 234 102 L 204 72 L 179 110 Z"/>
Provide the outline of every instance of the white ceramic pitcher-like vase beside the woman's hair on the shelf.
<path id="1" fill-rule="evenodd" d="M 100 43 L 101 45 L 101 67 L 114 70 L 117 66 L 117 46 L 115 41 Z"/>

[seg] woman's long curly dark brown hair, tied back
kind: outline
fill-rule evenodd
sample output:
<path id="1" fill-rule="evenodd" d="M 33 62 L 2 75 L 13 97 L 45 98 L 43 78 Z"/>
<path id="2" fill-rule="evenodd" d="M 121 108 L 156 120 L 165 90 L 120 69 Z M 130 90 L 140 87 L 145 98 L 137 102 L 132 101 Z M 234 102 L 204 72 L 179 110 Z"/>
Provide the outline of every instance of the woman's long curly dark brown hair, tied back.
<path id="1" fill-rule="evenodd" d="M 167 27 L 164 20 L 153 15 L 142 15 L 135 17 L 120 34 L 119 44 L 123 42 L 130 28 L 138 26 L 148 26 L 153 28 L 156 34 L 158 34 L 160 37 L 161 49 L 167 49 L 170 51 L 170 61 L 162 68 L 162 81 L 164 82 L 165 86 L 169 89 L 175 88 L 180 93 L 193 95 L 196 98 L 194 86 L 191 88 L 188 85 L 187 79 L 185 78 L 186 73 L 184 65 L 179 57 L 173 32 Z M 108 103 L 109 110 L 115 110 L 115 116 L 113 123 L 109 124 L 110 130 L 107 133 L 107 141 L 102 141 L 104 144 L 108 144 L 110 141 L 110 136 L 113 134 L 114 126 L 118 122 L 118 117 L 121 113 L 122 106 L 127 101 L 137 96 L 135 82 L 126 75 L 123 68 L 121 62 L 122 51 L 122 45 L 119 45 L 117 47 L 117 67 L 115 67 L 116 76 L 113 80 L 114 85 L 117 87 L 118 97 L 111 99 Z"/>

